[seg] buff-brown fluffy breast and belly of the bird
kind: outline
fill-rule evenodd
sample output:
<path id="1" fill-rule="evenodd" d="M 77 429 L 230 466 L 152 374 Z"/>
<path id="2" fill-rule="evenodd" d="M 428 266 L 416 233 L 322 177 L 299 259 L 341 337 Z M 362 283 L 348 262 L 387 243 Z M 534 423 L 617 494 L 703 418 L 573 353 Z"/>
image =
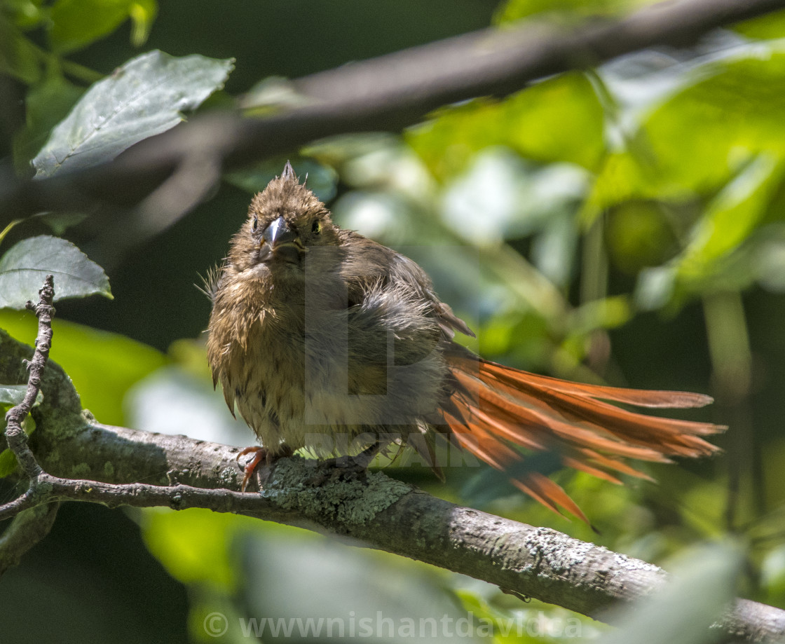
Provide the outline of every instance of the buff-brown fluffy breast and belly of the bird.
<path id="1" fill-rule="evenodd" d="M 340 295 L 335 286 L 273 288 L 226 344 L 227 402 L 265 446 L 345 452 L 338 442 L 372 428 L 415 427 L 436 406 L 438 355 L 401 364 L 395 329 L 356 313 Z"/>

